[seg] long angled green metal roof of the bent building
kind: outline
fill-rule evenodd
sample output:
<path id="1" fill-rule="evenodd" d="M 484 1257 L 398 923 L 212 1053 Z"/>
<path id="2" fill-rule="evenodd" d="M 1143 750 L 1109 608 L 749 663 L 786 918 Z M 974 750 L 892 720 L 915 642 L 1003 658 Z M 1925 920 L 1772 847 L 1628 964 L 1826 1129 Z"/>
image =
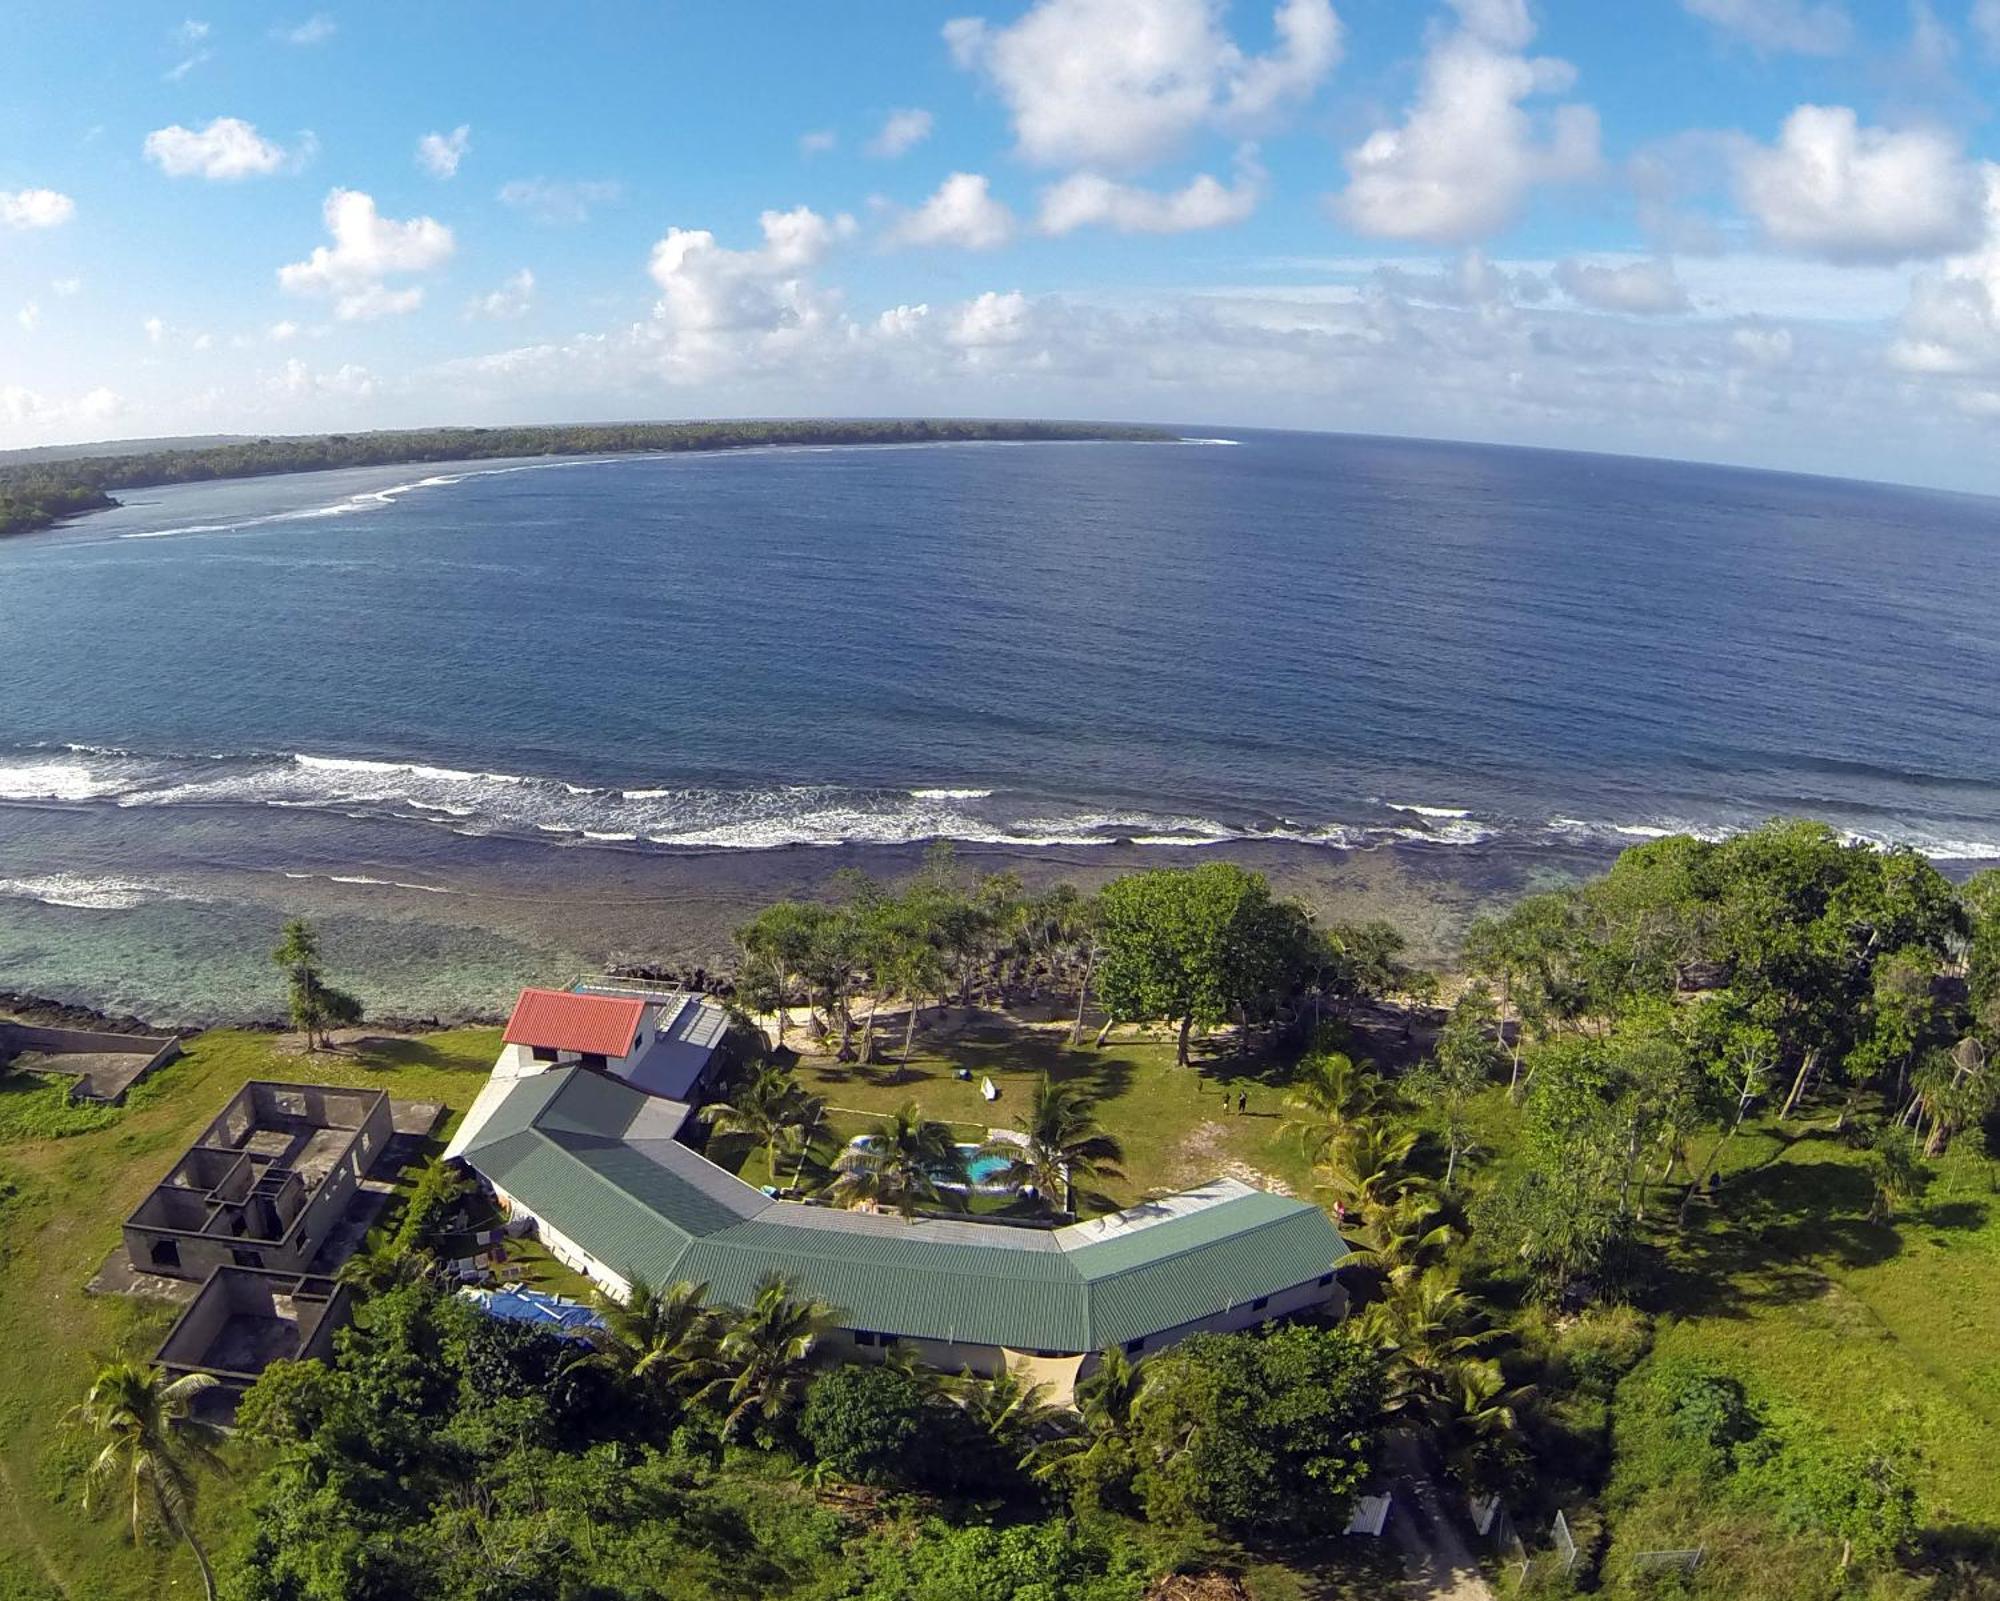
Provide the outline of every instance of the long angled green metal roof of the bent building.
<path id="1" fill-rule="evenodd" d="M 1232 1181 L 1056 1231 L 904 1223 L 772 1201 L 674 1139 L 678 1103 L 582 1067 L 520 1079 L 466 1161 L 622 1277 L 744 1305 L 784 1275 L 842 1325 L 1096 1351 L 1312 1283 L 1348 1253 L 1324 1211 Z"/>

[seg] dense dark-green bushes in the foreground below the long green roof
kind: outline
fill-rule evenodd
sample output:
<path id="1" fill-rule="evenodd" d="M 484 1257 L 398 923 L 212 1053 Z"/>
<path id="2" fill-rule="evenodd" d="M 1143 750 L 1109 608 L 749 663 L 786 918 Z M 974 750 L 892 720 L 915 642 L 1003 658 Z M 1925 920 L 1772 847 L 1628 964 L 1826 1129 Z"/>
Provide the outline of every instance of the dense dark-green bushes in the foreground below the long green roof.
<path id="1" fill-rule="evenodd" d="M 652 1305 L 648 1349 L 666 1349 L 682 1303 Z M 1216 1533 L 1334 1523 L 1368 1471 L 1382 1393 L 1364 1343 L 1312 1327 L 1206 1335 L 1142 1379 L 1112 1361 L 1138 1401 L 1094 1399 L 1090 1421 L 1006 1379 L 824 1367 L 776 1431 L 800 1461 L 724 1443 L 726 1333 L 712 1355 L 672 1347 L 686 1359 L 672 1391 L 648 1377 L 658 1367 L 492 1321 L 424 1279 L 360 1311 L 334 1363 L 276 1363 L 244 1397 L 256 1471 L 224 1565 L 242 1601 L 1136 1601 Z M 1100 1429 L 1118 1449 L 1098 1461 L 1150 1531 L 1068 1515 L 1076 1481 L 1042 1471 L 1080 1461 Z M 820 1479 L 888 1499 L 834 1511 L 808 1489 Z"/>

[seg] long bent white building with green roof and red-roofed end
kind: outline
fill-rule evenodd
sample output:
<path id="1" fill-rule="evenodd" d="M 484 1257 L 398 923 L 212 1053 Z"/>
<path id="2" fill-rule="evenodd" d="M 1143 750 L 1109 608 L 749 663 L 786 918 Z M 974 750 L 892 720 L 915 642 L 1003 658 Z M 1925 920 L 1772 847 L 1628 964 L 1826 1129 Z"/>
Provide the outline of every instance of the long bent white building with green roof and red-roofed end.
<path id="1" fill-rule="evenodd" d="M 1026 1371 L 1068 1397 L 1096 1353 L 1344 1309 L 1346 1243 L 1320 1207 L 1216 1179 L 1062 1229 L 782 1201 L 684 1139 L 706 1077 L 634 1069 L 660 1025 L 598 993 L 528 991 L 494 1077 L 446 1155 L 542 1243 L 616 1297 L 688 1279 L 746 1305 L 762 1281 L 840 1313 L 858 1357 L 902 1343 L 944 1371 Z M 672 1033 L 672 1025 L 668 1027 Z M 720 1033 L 716 1035 L 720 1039 Z M 678 1095 L 660 1089 L 674 1085 Z"/>

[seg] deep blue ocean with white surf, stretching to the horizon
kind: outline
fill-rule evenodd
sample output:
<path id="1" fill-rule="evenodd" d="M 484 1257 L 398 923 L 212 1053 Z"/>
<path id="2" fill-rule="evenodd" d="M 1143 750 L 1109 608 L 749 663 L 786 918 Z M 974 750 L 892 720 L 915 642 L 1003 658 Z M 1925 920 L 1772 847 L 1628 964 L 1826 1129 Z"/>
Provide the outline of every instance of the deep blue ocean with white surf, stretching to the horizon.
<path id="1" fill-rule="evenodd" d="M 1812 813 L 2000 861 L 2000 502 L 1188 432 L 192 484 L 4 540 L 0 909 L 102 929 L 256 861 L 420 915 L 450 841 L 546 885 Z"/>

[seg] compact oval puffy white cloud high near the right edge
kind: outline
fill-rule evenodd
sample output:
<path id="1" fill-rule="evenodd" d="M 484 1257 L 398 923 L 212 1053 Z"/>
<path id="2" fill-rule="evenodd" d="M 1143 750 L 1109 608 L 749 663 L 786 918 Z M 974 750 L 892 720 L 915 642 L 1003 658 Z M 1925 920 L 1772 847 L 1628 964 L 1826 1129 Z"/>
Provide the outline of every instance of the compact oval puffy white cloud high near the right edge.
<path id="1" fill-rule="evenodd" d="M 1894 262 L 1978 236 L 1980 180 L 1928 128 L 1862 128 L 1848 106 L 1800 106 L 1776 146 L 1746 146 L 1736 196 L 1766 238 L 1836 262 Z"/>

